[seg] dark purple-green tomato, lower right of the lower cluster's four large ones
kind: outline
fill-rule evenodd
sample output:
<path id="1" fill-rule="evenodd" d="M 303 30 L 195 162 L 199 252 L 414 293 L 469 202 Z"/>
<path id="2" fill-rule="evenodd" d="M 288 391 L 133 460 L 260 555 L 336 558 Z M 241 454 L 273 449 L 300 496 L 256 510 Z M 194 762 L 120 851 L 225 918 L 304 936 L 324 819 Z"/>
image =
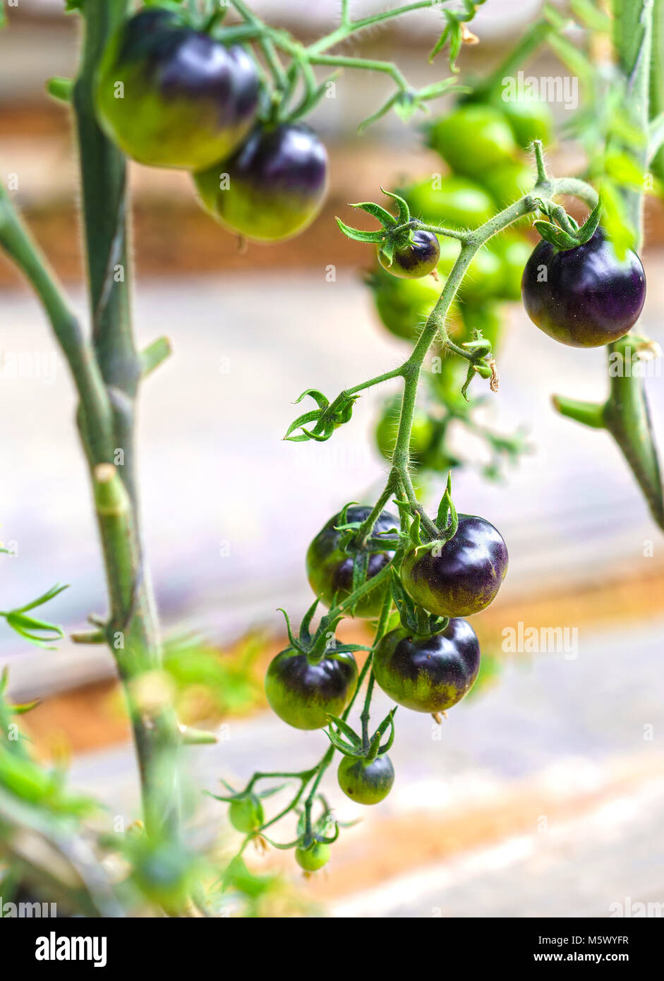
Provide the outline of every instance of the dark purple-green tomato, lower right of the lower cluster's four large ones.
<path id="1" fill-rule="evenodd" d="M 432 637 L 399 627 L 376 647 L 373 666 L 377 683 L 397 704 L 415 712 L 444 712 L 473 687 L 480 645 L 466 620 L 452 619 Z"/>

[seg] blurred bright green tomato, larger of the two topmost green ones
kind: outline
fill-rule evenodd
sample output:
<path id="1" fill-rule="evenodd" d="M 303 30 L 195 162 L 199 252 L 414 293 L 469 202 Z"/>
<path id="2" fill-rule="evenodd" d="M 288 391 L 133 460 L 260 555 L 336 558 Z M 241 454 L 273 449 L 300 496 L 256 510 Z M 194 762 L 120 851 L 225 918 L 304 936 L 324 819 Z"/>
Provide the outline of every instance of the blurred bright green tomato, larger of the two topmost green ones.
<path id="1" fill-rule="evenodd" d="M 481 181 L 487 170 L 517 152 L 504 115 L 493 106 L 473 103 L 458 106 L 434 123 L 429 143 L 457 174 Z"/>

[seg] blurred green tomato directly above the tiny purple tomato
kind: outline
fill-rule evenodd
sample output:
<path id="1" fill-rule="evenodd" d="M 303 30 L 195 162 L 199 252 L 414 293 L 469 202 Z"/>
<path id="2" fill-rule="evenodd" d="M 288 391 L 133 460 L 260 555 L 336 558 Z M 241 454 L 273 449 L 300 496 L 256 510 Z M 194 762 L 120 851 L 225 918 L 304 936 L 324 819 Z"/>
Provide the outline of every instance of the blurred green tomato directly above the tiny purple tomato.
<path id="1" fill-rule="evenodd" d="M 428 225 L 477 229 L 495 210 L 484 187 L 457 174 L 425 178 L 399 193 L 411 214 Z"/>

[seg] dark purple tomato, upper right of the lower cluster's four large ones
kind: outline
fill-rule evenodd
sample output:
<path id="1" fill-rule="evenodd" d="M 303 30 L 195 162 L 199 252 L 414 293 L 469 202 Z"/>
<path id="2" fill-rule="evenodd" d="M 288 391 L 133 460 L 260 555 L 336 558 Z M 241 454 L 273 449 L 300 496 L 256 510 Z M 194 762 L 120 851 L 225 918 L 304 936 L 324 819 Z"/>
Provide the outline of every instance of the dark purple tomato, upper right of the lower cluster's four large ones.
<path id="1" fill-rule="evenodd" d="M 492 602 L 507 572 L 507 546 L 484 518 L 459 515 L 449 542 L 428 542 L 406 553 L 404 589 L 436 616 L 471 616 Z"/>

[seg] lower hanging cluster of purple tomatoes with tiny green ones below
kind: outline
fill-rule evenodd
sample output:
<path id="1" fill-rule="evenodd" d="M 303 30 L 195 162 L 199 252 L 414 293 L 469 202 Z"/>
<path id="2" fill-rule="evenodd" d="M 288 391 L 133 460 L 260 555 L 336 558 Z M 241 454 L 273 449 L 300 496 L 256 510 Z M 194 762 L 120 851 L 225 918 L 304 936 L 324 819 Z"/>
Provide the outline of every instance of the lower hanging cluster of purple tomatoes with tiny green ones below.
<path id="1" fill-rule="evenodd" d="M 449 500 L 448 495 L 449 486 Z M 307 550 L 309 583 L 332 611 L 391 566 L 391 597 L 401 625 L 384 633 L 375 646 L 374 679 L 398 705 L 437 717 L 467 695 L 478 676 L 480 645 L 464 618 L 495 598 L 507 572 L 507 548 L 493 525 L 474 515 L 457 515 L 451 501 L 442 538 L 426 542 L 420 541 L 419 525 L 414 540 L 413 526 L 406 534 L 388 511 L 367 529 L 371 514 L 369 507 L 352 505 L 333 515 Z M 387 589 L 385 580 L 373 590 L 360 591 L 343 615 L 376 620 Z M 366 729 L 358 736 L 343 716 L 357 685 L 351 649 L 332 645 L 314 656 L 294 640 L 273 659 L 265 679 L 268 701 L 284 722 L 298 729 L 329 727 L 332 746 L 342 753 L 339 787 L 351 800 L 372 805 L 383 800 L 394 783 L 387 755 L 394 738 L 394 710 L 372 739 Z M 382 744 L 388 728 L 391 734 Z M 255 831 L 262 818 L 259 800 L 233 800 L 230 820 L 238 830 Z M 295 857 L 305 871 L 316 871 L 328 861 L 329 841 L 306 841 Z"/>

